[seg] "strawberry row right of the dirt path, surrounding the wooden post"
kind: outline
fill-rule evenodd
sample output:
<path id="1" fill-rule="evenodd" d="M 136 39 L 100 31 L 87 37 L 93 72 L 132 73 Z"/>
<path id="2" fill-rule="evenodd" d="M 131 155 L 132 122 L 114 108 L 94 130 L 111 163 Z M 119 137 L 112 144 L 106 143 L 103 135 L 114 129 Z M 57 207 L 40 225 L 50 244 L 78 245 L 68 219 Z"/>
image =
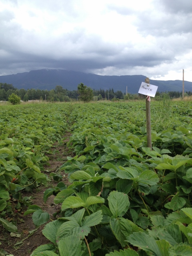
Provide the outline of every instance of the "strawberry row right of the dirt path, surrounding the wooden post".
<path id="1" fill-rule="evenodd" d="M 192 127 L 178 115 L 167 117 L 167 130 L 154 130 L 155 107 L 151 151 L 144 106 L 75 106 L 68 146 L 76 156 L 61 166 L 71 184 L 46 190 L 44 202 L 56 194 L 61 215 L 42 231 L 52 243 L 32 256 L 192 254 Z M 41 224 L 40 207 L 30 213 Z"/>

